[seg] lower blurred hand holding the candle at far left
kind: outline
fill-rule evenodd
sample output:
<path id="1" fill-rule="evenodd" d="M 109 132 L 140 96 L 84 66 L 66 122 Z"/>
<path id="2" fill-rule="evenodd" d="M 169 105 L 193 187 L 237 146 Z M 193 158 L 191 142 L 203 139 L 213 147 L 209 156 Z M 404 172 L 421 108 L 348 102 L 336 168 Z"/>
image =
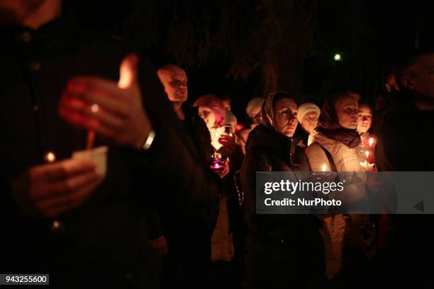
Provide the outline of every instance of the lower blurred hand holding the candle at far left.
<path id="1" fill-rule="evenodd" d="M 53 153 L 46 154 L 53 159 Z M 67 159 L 32 166 L 11 185 L 21 210 L 32 217 L 57 217 L 77 208 L 101 183 L 89 159 Z"/>

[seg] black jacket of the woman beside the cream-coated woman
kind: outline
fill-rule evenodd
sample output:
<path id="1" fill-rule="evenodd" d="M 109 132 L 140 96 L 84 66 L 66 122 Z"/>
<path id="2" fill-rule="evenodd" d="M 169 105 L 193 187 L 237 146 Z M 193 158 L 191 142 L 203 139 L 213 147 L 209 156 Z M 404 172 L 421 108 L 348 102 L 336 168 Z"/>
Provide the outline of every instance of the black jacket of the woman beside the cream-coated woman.
<path id="1" fill-rule="evenodd" d="M 257 171 L 294 171 L 301 178 L 307 176 L 306 155 L 296 145 L 296 140 L 292 141 L 265 125 L 250 132 L 241 168 L 247 236 L 257 242 L 281 242 L 282 239 L 293 244 L 316 242 L 318 223 L 312 215 L 256 215 Z"/>

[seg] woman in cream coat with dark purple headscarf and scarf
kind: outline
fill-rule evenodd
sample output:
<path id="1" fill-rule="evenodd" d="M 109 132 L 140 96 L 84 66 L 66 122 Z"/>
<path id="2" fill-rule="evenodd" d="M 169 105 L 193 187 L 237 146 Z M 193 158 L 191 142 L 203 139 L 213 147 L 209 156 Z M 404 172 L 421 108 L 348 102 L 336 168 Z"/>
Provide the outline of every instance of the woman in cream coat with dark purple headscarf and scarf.
<path id="1" fill-rule="evenodd" d="M 321 109 L 318 127 L 311 134 L 312 143 L 306 148 L 312 171 L 337 171 L 340 180 L 345 180 L 345 193 L 338 197 L 347 207 L 367 196 L 363 165 L 366 161 L 365 147 L 356 130 L 358 112 L 357 100 L 350 94 L 343 92 L 328 96 Z M 369 226 L 369 215 L 350 214 L 344 217 L 343 214 L 335 214 L 322 217 L 321 221 L 326 274 L 333 279 L 341 271 L 344 242 L 347 241 L 345 234 L 355 232 L 352 237 L 360 244 L 372 241 L 369 234 L 366 236 L 368 239 L 364 239 L 357 233 L 359 228 Z M 357 249 L 369 253 L 364 246 Z"/>

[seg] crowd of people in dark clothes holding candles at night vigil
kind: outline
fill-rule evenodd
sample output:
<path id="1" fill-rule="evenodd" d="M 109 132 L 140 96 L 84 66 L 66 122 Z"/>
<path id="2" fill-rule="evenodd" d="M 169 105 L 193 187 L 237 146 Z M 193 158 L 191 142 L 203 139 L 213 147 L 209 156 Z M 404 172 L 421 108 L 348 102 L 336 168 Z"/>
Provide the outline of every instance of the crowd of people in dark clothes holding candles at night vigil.
<path id="1" fill-rule="evenodd" d="M 432 217 L 257 215 L 256 172 L 432 171 L 434 50 L 396 61 L 374 107 L 276 91 L 238 122 L 228 97 L 189 105 L 182 67 L 155 72 L 83 34 L 69 5 L 0 1 L 0 273 L 50 273 L 52 288 L 433 287 Z M 101 146 L 103 173 L 71 158 Z M 369 183 L 348 186 L 351 204 Z"/>

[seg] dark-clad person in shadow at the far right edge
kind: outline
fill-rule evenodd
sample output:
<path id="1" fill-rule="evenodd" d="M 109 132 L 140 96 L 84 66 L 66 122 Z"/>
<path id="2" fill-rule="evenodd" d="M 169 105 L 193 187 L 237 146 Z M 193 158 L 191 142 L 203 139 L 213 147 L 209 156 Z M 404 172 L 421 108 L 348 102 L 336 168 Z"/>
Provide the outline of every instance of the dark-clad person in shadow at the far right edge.
<path id="1" fill-rule="evenodd" d="M 395 76 L 400 89 L 396 94 L 401 94 L 399 98 L 405 100 L 406 105 L 384 117 L 375 149 L 380 171 L 433 171 L 433 69 L 434 50 L 418 50 L 396 65 Z M 432 215 L 391 215 L 391 221 L 394 238 L 389 248 L 390 263 L 382 266 L 380 278 L 388 285 L 394 280 L 400 286 L 431 287 Z M 384 270 L 388 267 L 390 270 Z M 386 273 L 391 278 L 387 278 Z"/>

